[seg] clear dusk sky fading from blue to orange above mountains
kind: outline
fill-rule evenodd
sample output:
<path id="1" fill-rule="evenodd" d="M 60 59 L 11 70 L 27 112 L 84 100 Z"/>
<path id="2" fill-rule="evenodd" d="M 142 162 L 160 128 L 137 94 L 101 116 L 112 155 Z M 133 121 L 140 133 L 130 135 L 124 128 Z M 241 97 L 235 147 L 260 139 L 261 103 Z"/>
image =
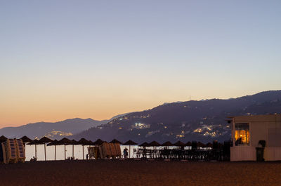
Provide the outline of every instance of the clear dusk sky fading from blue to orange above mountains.
<path id="1" fill-rule="evenodd" d="M 1 1 L 0 128 L 281 88 L 281 1 Z"/>

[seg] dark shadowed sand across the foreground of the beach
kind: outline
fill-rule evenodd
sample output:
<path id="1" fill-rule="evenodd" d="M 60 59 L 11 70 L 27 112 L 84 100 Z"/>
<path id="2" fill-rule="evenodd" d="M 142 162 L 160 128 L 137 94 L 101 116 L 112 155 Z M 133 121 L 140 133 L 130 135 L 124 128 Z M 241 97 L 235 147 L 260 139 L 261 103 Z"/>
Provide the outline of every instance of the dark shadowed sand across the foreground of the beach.
<path id="1" fill-rule="evenodd" d="M 281 185 L 281 162 L 39 161 L 0 164 L 0 185 Z"/>

